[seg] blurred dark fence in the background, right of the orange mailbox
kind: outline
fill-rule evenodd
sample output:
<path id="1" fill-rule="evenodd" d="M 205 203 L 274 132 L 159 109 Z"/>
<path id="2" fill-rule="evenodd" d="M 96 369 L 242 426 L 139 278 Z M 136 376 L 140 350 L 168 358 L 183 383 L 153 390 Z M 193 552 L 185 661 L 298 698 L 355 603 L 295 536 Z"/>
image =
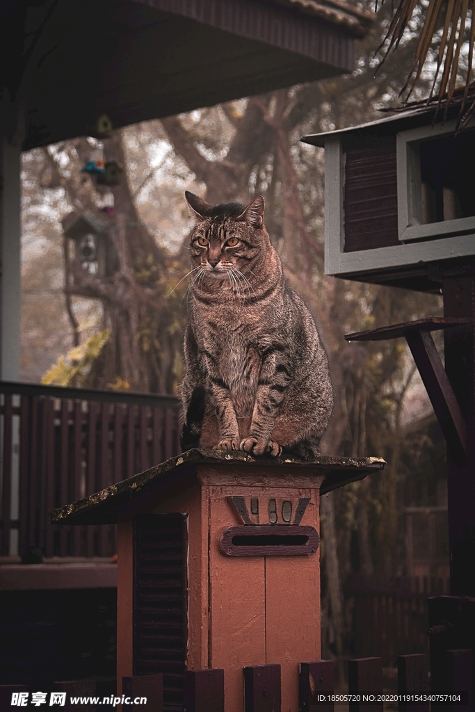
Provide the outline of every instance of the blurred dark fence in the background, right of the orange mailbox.
<path id="1" fill-rule="evenodd" d="M 353 574 L 345 585 L 349 647 L 395 666 L 402 653 L 428 653 L 427 597 L 449 594 L 449 580 Z"/>

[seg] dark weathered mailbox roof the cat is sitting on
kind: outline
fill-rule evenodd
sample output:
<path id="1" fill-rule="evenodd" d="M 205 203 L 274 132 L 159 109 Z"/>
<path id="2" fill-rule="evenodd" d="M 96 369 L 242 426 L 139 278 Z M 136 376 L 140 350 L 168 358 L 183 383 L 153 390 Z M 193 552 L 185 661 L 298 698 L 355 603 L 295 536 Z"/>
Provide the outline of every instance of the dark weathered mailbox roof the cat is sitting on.
<path id="1" fill-rule="evenodd" d="M 53 509 L 50 515 L 51 524 L 108 524 L 118 520 L 120 507 L 130 504 L 138 498 L 149 494 L 164 482 L 182 481 L 199 465 L 221 464 L 224 468 L 243 465 L 243 470 L 249 465 L 249 473 L 256 474 L 256 468 L 266 467 L 276 469 L 277 473 L 286 476 L 302 473 L 324 476 L 320 486 L 320 494 L 342 487 L 350 482 L 365 478 L 371 472 L 382 470 L 385 461 L 380 457 L 344 458 L 320 456 L 314 461 L 302 461 L 292 457 L 275 459 L 256 458 L 244 452 L 233 454 L 216 450 L 193 449 L 182 455 L 173 457 L 160 465 L 140 472 L 133 477 L 122 480 L 115 485 L 97 492 L 90 497 L 67 504 L 59 509 Z"/>

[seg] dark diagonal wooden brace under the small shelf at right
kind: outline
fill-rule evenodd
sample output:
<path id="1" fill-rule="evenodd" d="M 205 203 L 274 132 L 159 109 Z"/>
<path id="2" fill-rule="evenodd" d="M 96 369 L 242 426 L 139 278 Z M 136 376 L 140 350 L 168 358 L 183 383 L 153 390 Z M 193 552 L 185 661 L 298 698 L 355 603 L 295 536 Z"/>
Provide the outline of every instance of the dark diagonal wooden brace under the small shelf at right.
<path id="1" fill-rule="evenodd" d="M 404 330 L 407 345 L 426 387 L 455 461 L 466 463 L 466 425 L 434 340 L 427 330 Z"/>

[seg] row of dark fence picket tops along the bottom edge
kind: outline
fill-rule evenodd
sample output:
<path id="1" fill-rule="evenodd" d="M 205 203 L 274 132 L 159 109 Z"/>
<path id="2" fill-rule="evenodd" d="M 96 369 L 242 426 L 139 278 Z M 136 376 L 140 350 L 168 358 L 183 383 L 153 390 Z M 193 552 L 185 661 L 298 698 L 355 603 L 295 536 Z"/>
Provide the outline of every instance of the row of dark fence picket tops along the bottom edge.
<path id="1" fill-rule="evenodd" d="M 470 712 L 473 704 L 473 655 L 469 649 L 450 650 L 441 658 L 444 679 L 434 686 L 429 684 L 429 659 L 424 654 L 400 655 L 397 658 L 397 689 L 384 691 L 382 658 L 369 657 L 348 661 L 348 693 L 335 691 L 333 661 L 315 660 L 298 666 L 298 709 L 300 712 L 335 712 L 349 708 L 350 712 Z M 244 712 L 281 712 L 281 666 L 255 665 L 244 668 Z M 100 696 L 94 681 L 78 680 L 57 682 L 55 691 L 66 692 L 66 709 L 73 711 L 71 696 L 98 696 L 97 703 L 81 709 L 88 712 L 115 709 L 116 704 L 127 699 L 123 709 L 132 710 L 133 701 L 147 698 L 150 712 L 165 712 L 162 675 L 145 675 L 122 678 L 122 696 L 108 693 Z M 460 703 L 434 705 L 434 693 L 456 693 Z M 31 698 L 26 686 L 0 686 L 2 709 L 10 706 L 13 696 L 19 693 Z M 418 699 L 414 699 L 414 696 Z M 348 704 L 348 697 L 351 701 Z M 48 695 L 49 697 L 49 695 Z M 137 701 L 138 703 L 138 701 Z M 137 703 L 135 706 L 137 706 Z M 344 707 L 343 707 L 344 705 Z M 74 706 L 74 709 L 76 706 Z M 185 673 L 184 709 L 186 712 L 224 712 L 224 670 L 204 669 Z M 287 707 L 286 707 L 287 709 Z"/>

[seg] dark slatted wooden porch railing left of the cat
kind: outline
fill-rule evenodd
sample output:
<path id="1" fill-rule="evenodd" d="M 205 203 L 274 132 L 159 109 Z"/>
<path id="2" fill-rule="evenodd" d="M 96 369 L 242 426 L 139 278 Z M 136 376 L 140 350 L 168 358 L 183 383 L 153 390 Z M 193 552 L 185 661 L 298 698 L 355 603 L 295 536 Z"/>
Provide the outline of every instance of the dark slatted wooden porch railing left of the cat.
<path id="1" fill-rule="evenodd" d="M 0 382 L 0 555 L 113 555 L 114 525 L 48 513 L 179 454 L 179 413 L 174 396 Z"/>

